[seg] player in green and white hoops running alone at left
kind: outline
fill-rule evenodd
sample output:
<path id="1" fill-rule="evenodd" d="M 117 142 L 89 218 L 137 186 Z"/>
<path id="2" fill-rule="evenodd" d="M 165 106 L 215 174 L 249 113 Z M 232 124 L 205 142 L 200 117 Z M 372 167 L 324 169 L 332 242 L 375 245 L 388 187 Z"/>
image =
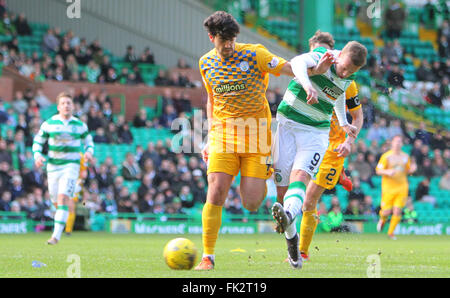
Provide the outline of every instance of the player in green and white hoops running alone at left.
<path id="1" fill-rule="evenodd" d="M 42 123 L 33 140 L 33 154 L 37 167 L 46 161 L 42 148 L 48 141 L 47 177 L 51 200 L 56 206 L 54 230 L 48 244 L 56 244 L 69 215 L 68 203 L 73 196 L 80 174 L 80 152 L 86 161 L 93 161 L 94 143 L 88 127 L 72 116 L 73 100 L 66 93 L 57 97 L 58 114 Z"/>

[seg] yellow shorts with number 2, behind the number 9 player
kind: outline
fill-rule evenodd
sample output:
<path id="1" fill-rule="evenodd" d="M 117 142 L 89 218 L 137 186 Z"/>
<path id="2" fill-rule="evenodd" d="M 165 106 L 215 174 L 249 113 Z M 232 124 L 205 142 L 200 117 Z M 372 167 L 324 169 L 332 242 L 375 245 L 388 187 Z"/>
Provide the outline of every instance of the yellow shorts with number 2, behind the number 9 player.
<path id="1" fill-rule="evenodd" d="M 344 161 L 345 157 L 338 157 L 337 153 L 328 147 L 320 164 L 319 172 L 314 178 L 314 183 L 326 189 L 333 189 L 339 182 Z"/>

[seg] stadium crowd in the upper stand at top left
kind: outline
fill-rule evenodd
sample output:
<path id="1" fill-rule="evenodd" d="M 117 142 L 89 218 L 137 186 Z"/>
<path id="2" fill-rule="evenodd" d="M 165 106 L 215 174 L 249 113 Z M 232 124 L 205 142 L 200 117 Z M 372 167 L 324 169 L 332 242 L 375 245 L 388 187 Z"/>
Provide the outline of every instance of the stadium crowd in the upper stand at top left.
<path id="1" fill-rule="evenodd" d="M 1 6 L 0 7 L 4 7 Z M 46 80 L 117 83 L 136 85 L 148 83 L 142 74 L 141 66 L 155 65 L 155 57 L 149 47 L 137 54 L 128 45 L 122 61 L 128 65 L 117 66 L 111 61 L 112 55 L 102 46 L 99 39 L 87 42 L 85 38 L 74 35 L 73 31 L 61 32 L 58 27 L 49 28 L 42 37 L 41 51 L 34 51 L 27 57 L 20 50 L 19 38 L 32 35 L 32 28 L 26 16 L 2 9 L 0 35 L 12 36 L 8 42 L 0 43 L 0 63 L 13 66 L 22 75 L 36 82 Z M 121 67 L 121 69 L 117 69 Z M 183 58 L 177 68 L 190 68 Z M 156 86 L 196 87 L 189 78 L 178 73 L 168 73 L 160 69 L 153 82 Z"/>

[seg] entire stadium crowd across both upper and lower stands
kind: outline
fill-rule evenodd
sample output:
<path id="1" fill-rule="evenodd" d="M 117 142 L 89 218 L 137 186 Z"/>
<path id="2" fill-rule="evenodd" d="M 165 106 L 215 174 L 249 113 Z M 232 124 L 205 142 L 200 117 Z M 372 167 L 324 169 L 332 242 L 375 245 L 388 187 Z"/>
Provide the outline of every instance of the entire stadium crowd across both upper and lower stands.
<path id="1" fill-rule="evenodd" d="M 15 15 L 4 9 L 5 1 L 0 0 L 0 35 L 26 36 L 32 34 L 23 14 Z M 420 90 L 424 94 L 424 104 L 428 101 L 437 106 L 445 106 L 449 97 L 448 78 L 450 62 L 448 42 L 450 29 L 444 22 L 439 30 L 439 53 L 446 63 L 423 60 L 417 70 L 420 81 L 431 82 L 432 91 Z M 446 38 L 446 44 L 444 38 Z M 136 55 L 133 46 L 126 48 L 123 61 L 132 63 L 132 71 L 126 67 L 117 74 L 110 56 L 104 54 L 99 40 L 88 44 L 86 39 L 74 36 L 73 32 L 61 33 L 58 28 L 50 28 L 42 41 L 43 55 L 38 53 L 27 57 L 20 52 L 19 39 L 0 44 L 0 60 L 5 65 L 13 65 L 20 73 L 36 81 L 88 81 L 91 83 L 137 84 L 143 82 L 139 64 L 154 64 L 155 57 L 147 48 Z M 396 39 L 386 43 L 382 49 L 371 53 L 368 67 L 371 75 L 387 80 L 396 88 L 404 88 L 404 79 L 399 65 L 404 60 L 404 51 Z M 80 66 L 82 66 L 80 68 Z M 178 68 L 189 68 L 183 59 Z M 160 70 L 154 81 L 158 86 L 193 87 L 186 77 L 169 75 Z M 97 144 L 133 144 L 135 136 L 131 128 L 170 128 L 171 122 L 192 112 L 190 99 L 182 92 L 172 93 L 170 88 L 162 96 L 162 114 L 151 118 L 145 109 L 138 111 L 133 121 L 127 122 L 123 116 L 114 115 L 113 103 L 106 91 L 91 92 L 89 88 L 70 89 L 75 103 L 75 116 L 87 123 Z M 425 92 L 425 93 L 424 93 Z M 430 93 L 431 92 L 431 93 Z M 433 93 L 434 92 L 434 93 Z M 282 90 L 267 92 L 272 115 L 282 100 Z M 427 187 L 433 177 L 440 178 L 440 188 L 450 190 L 450 131 L 438 130 L 432 134 L 421 125 L 416 128 L 412 122 L 401 121 L 382 114 L 371 104 L 370 99 L 361 99 L 364 111 L 365 137 L 354 145 L 349 158 L 348 174 L 353 178 L 353 190 L 348 193 L 348 205 L 341 206 L 336 196 L 330 208 L 320 203 L 319 214 L 327 216 L 324 221 L 336 230 L 342 226 L 343 215 L 376 215 L 377 207 L 370 195 L 365 194 L 361 182 L 374 186 L 372 178 L 382 153 L 388 150 L 389 140 L 394 135 L 404 136 L 405 143 L 412 146 L 411 156 L 416 160 L 419 171 L 416 176 L 424 176 L 416 196 L 412 201 L 434 202 Z M 10 127 L 6 137 L 0 138 L 0 211 L 24 211 L 27 217 L 36 221 L 51 220 L 51 203 L 47 190 L 47 178 L 42 169 L 34 166 L 33 156 L 27 150 L 43 120 L 40 111 L 52 105 L 43 90 L 17 91 L 7 107 L 0 99 L 0 125 Z M 94 212 L 115 214 L 127 213 L 168 213 L 184 214 L 189 208 L 201 204 L 206 198 L 206 164 L 199 154 L 175 154 L 169 150 L 170 141 L 148 143 L 143 148 L 136 147 L 129 152 L 122 164 L 114 164 L 108 157 L 103 163 L 89 165 L 83 188 L 86 207 Z M 129 181 L 139 181 L 136 192 L 126 186 Z M 269 198 L 261 206 L 260 213 L 270 214 L 274 194 L 273 181 L 268 182 L 272 190 Z M 272 199 L 271 199 L 272 198 Z M 345 207 L 345 208 L 343 208 Z M 240 200 L 239 186 L 229 192 L 225 208 L 229 214 L 244 214 Z M 410 202 L 405 212 L 413 213 Z M 409 217 L 406 217 L 409 220 Z"/>

